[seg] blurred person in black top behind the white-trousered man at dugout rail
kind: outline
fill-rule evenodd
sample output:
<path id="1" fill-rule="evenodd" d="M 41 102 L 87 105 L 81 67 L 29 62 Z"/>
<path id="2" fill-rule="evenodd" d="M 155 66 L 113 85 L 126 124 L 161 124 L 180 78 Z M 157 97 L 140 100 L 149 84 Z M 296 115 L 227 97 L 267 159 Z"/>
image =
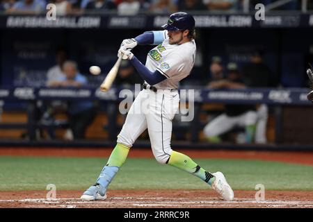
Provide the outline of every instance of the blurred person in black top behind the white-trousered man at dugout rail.
<path id="1" fill-rule="evenodd" d="M 252 53 L 250 63 L 243 66 L 243 79 L 248 87 L 274 87 L 275 78 L 271 70 L 264 63 L 264 52 L 256 50 Z M 255 142 L 265 144 L 266 125 L 268 119 L 268 107 L 266 104 L 260 105 L 257 110 L 258 121 L 255 133 Z"/>

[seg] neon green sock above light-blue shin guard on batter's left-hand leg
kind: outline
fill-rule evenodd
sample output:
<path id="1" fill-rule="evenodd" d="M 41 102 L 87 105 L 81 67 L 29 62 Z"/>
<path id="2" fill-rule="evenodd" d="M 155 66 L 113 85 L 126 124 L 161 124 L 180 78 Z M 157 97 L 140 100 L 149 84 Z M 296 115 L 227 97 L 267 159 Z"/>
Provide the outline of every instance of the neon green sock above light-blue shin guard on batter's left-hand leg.
<path id="1" fill-rule="evenodd" d="M 116 144 L 115 148 L 113 149 L 109 160 L 106 166 L 109 167 L 122 167 L 124 164 L 127 155 L 129 153 L 129 147 L 123 144 Z"/>

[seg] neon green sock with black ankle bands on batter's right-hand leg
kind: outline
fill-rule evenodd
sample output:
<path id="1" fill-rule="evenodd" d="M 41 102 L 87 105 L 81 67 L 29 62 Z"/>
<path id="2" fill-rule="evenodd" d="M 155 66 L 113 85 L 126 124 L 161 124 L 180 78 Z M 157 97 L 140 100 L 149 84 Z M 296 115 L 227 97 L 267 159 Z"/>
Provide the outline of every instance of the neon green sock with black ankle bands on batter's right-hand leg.
<path id="1" fill-rule="evenodd" d="M 168 160 L 168 164 L 188 173 L 191 173 L 194 176 L 197 176 L 204 182 L 207 182 L 209 185 L 212 185 L 212 182 L 214 182 L 215 180 L 215 177 L 211 173 L 205 171 L 202 167 L 193 162 L 193 160 L 191 160 L 191 157 L 188 157 L 183 153 L 172 151 L 170 159 Z"/>

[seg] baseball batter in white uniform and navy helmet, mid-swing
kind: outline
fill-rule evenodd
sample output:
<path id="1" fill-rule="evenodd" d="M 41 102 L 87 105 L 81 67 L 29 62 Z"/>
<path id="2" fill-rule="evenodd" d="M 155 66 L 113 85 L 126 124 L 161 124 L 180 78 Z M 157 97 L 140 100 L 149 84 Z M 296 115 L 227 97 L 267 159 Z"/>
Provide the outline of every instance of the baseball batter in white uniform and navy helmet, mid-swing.
<path id="1" fill-rule="evenodd" d="M 186 78 L 195 62 L 195 19 L 185 12 L 170 15 L 164 31 L 145 32 L 123 40 L 118 57 L 130 60 L 145 80 L 143 90 L 131 105 L 125 124 L 118 135 L 117 145 L 102 169 L 95 185 L 81 196 L 82 200 L 104 200 L 106 189 L 125 162 L 136 139 L 148 130 L 152 152 L 161 164 L 177 167 L 207 182 L 225 200 L 233 200 L 234 192 L 221 172 L 210 173 L 183 153 L 172 151 L 172 119 L 179 107 L 177 87 Z M 143 65 L 131 53 L 138 44 L 157 45 L 147 54 Z"/>

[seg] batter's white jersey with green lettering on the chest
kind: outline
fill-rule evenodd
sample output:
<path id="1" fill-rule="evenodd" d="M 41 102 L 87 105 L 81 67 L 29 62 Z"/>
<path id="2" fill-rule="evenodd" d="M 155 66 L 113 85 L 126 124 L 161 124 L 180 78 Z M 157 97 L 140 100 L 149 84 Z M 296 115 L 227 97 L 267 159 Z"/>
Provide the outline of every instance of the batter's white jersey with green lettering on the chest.
<path id="1" fill-rule="evenodd" d="M 180 45 L 169 44 L 167 31 L 162 32 L 164 40 L 147 54 L 145 66 L 166 76 L 166 80 L 154 85 L 157 89 L 177 89 L 179 81 L 190 74 L 195 64 L 195 40 Z"/>

